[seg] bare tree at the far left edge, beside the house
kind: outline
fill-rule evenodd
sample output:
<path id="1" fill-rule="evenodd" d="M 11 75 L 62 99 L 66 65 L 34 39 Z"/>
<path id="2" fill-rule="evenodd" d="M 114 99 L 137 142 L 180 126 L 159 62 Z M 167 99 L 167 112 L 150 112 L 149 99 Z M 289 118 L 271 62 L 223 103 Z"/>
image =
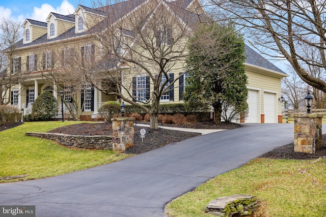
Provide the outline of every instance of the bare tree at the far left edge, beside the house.
<path id="1" fill-rule="evenodd" d="M 21 24 L 9 19 L 0 21 L 0 105 L 11 102 L 11 88 L 23 80 L 25 72 L 21 60 L 13 56 L 16 43 L 21 39 Z M 9 100 L 5 103 L 5 99 Z"/>

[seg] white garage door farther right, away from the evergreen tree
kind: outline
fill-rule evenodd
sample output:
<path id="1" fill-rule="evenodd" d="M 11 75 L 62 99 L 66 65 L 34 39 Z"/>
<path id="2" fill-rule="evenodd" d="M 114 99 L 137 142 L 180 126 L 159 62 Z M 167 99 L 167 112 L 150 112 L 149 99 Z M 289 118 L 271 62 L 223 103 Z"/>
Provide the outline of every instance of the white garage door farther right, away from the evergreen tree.
<path id="1" fill-rule="evenodd" d="M 264 92 L 265 123 L 277 123 L 276 118 L 276 94 Z"/>

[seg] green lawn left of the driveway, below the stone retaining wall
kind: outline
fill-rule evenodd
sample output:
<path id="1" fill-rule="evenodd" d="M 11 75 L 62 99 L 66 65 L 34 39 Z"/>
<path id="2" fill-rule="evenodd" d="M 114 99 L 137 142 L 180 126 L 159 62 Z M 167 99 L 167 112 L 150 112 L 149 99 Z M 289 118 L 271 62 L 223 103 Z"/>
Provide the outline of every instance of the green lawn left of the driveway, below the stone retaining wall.
<path id="1" fill-rule="evenodd" d="M 26 132 L 46 132 L 78 121 L 25 122 L 0 132 L 0 177 L 29 174 L 20 180 L 38 179 L 70 173 L 129 157 L 102 150 L 76 150 L 55 142 L 25 136 Z M 14 180 L 0 180 L 10 182 Z"/>

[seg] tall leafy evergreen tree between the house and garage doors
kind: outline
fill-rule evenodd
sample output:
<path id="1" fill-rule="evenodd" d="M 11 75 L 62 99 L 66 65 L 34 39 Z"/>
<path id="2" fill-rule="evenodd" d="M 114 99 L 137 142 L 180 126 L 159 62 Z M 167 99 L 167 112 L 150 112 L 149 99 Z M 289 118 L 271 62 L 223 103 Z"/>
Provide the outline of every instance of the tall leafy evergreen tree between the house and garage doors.
<path id="1" fill-rule="evenodd" d="M 202 24 L 189 40 L 188 49 L 191 55 L 186 63 L 192 71 L 186 80 L 184 101 L 196 107 L 213 107 L 215 123 L 221 123 L 222 108 L 245 112 L 246 56 L 243 38 L 235 28 L 216 22 Z"/>

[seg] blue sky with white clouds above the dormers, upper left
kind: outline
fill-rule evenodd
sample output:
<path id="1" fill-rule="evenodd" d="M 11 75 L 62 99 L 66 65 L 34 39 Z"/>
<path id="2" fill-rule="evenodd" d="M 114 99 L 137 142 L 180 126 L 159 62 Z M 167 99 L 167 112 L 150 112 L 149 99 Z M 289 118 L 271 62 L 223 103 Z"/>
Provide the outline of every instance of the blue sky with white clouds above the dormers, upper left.
<path id="1" fill-rule="evenodd" d="M 92 0 L 0 0 L 0 18 L 23 22 L 26 18 L 45 22 L 50 12 L 72 14 L 77 6 L 91 5 Z"/>

